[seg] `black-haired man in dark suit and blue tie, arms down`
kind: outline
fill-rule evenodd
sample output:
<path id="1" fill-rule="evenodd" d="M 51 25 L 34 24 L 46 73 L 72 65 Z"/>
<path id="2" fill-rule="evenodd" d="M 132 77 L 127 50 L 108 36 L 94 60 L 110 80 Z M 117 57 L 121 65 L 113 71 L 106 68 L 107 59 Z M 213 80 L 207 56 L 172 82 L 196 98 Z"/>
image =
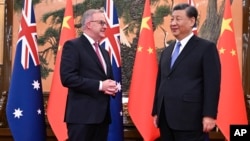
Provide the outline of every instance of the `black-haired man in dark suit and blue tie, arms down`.
<path id="1" fill-rule="evenodd" d="M 221 66 L 216 45 L 192 32 L 197 16 L 189 4 L 173 8 L 176 41 L 161 54 L 152 110 L 162 141 L 204 141 L 215 127 Z"/>

